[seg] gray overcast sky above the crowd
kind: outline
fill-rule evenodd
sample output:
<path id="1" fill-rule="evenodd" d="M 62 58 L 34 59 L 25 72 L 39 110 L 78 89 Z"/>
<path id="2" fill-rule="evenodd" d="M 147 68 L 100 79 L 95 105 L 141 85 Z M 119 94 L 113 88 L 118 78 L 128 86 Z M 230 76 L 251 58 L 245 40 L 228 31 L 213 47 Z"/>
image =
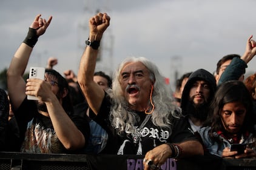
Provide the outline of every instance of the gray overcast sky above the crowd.
<path id="1" fill-rule="evenodd" d="M 56 70 L 77 73 L 88 38 L 87 22 L 99 10 L 111 21 L 97 70 L 112 74 L 125 57 L 144 56 L 173 83 L 175 70 L 179 76 L 198 68 L 212 73 L 224 55 L 242 55 L 248 37 L 256 39 L 255 7 L 254 0 L 2 0 L 0 69 L 8 67 L 29 25 L 41 13 L 53 20 L 39 38 L 29 67 L 45 67 L 49 57 L 56 57 Z M 252 59 L 247 71 L 255 72 L 255 64 Z"/>

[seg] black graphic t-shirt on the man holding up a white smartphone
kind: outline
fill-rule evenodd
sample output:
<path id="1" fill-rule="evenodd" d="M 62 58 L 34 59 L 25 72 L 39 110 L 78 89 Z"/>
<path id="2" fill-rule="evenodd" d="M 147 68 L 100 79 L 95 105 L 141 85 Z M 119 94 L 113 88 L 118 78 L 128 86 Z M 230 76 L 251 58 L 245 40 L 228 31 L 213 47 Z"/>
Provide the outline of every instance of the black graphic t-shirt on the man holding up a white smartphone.
<path id="1" fill-rule="evenodd" d="M 14 111 L 19 126 L 21 152 L 30 153 L 80 153 L 67 151 L 56 136 L 50 117 L 38 113 L 36 102 L 24 99 L 18 110 Z M 79 131 L 88 139 L 89 123 L 84 117 L 70 116 Z"/>

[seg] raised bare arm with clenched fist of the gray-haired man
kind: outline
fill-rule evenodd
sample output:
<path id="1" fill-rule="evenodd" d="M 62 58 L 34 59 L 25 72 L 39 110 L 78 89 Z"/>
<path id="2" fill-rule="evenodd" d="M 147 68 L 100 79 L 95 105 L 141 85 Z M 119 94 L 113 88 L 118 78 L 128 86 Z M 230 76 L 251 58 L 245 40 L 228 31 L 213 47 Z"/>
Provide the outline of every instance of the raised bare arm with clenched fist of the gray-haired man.
<path id="1" fill-rule="evenodd" d="M 78 83 L 86 96 L 87 102 L 93 112 L 98 113 L 104 97 L 104 90 L 93 82 L 99 42 L 104 31 L 109 27 L 110 17 L 106 13 L 98 13 L 89 20 L 89 42 L 80 61 Z"/>

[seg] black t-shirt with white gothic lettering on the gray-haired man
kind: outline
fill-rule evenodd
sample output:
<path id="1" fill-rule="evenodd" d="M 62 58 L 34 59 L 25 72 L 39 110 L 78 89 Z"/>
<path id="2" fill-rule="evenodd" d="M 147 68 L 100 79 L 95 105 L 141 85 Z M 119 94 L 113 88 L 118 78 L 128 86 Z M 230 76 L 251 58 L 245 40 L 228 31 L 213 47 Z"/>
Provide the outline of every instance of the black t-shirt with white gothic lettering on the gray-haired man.
<path id="1" fill-rule="evenodd" d="M 168 128 L 163 129 L 152 123 L 151 115 L 144 112 L 136 112 L 140 116 L 141 122 L 138 122 L 136 134 L 117 135 L 115 129 L 110 124 L 110 98 L 105 95 L 101 109 L 94 120 L 99 123 L 109 134 L 107 146 L 104 153 L 107 154 L 137 154 L 144 155 L 147 151 L 164 143 L 180 143 L 187 140 L 198 140 L 194 132 L 190 130 L 187 119 L 176 119 L 172 117 L 172 125 L 170 131 Z M 143 124 L 143 126 L 141 126 Z M 136 136 L 138 136 L 136 140 Z M 117 151 L 117 152 L 116 152 Z"/>

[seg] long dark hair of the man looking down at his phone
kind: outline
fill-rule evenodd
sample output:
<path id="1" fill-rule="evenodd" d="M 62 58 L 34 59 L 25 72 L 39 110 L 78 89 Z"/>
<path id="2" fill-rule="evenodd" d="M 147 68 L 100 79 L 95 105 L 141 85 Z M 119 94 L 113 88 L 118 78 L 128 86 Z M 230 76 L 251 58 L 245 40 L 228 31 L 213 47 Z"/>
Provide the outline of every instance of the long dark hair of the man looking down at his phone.
<path id="1" fill-rule="evenodd" d="M 214 132 L 224 131 L 221 121 L 221 111 L 226 103 L 231 102 L 240 102 L 246 108 L 246 116 L 244 117 L 241 133 L 246 131 L 254 132 L 255 116 L 252 110 L 251 94 L 249 94 L 243 82 L 232 80 L 224 82 L 218 87 L 214 100 L 211 103 L 211 110 L 208 117 L 208 124 L 212 127 L 209 132 L 211 138 L 214 139 Z"/>

